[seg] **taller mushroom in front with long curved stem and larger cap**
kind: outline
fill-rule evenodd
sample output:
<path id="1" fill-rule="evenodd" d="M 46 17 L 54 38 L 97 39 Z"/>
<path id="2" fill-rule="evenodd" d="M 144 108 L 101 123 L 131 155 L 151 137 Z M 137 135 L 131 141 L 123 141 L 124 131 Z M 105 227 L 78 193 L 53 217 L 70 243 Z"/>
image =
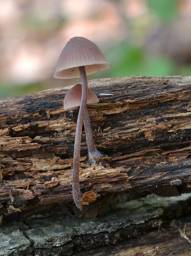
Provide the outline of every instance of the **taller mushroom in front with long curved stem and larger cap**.
<path id="1" fill-rule="evenodd" d="M 87 102 L 87 75 L 108 69 L 109 67 L 108 61 L 98 46 L 84 37 L 73 37 L 67 42 L 60 54 L 54 74 L 55 78 L 81 77 L 82 81 L 82 98 L 75 132 L 72 178 L 73 198 L 75 205 L 79 209 L 82 209 L 79 202 L 81 198 L 79 189 L 79 158 L 83 117 Z"/>

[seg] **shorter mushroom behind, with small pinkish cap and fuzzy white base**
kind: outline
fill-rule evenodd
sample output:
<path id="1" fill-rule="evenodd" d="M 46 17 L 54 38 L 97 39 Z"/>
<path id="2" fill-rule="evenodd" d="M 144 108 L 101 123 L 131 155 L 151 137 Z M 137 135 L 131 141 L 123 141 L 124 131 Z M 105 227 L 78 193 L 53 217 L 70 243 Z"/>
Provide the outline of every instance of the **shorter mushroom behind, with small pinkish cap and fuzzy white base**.
<path id="1" fill-rule="evenodd" d="M 64 97 L 64 110 L 68 110 L 74 107 L 80 106 L 82 98 L 82 85 L 77 84 L 73 86 Z M 94 104 L 99 102 L 99 99 L 95 95 L 94 92 L 92 92 L 89 88 L 87 89 L 87 103 L 86 104 Z M 85 107 L 85 114 L 83 117 L 83 124 L 86 132 L 86 141 L 87 141 L 87 147 L 88 147 L 88 155 L 91 157 L 98 157 L 101 158 L 104 156 L 102 152 L 96 149 L 93 137 L 91 133 L 91 125 L 90 125 L 90 119 L 87 111 L 87 106 Z M 90 158 L 90 163 L 95 163 L 95 159 Z"/>

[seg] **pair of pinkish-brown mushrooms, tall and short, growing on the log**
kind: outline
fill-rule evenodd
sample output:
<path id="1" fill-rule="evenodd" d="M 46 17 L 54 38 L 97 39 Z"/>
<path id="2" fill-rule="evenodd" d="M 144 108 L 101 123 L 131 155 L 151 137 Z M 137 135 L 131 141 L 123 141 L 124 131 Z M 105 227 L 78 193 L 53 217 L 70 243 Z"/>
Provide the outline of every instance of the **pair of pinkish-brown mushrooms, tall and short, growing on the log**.
<path id="1" fill-rule="evenodd" d="M 60 79 L 81 77 L 82 82 L 82 85 L 75 85 L 64 98 L 64 110 L 80 106 L 75 132 L 72 178 L 73 198 L 75 205 L 80 210 L 82 210 L 82 205 L 79 202 L 81 198 L 79 189 L 79 158 L 83 123 L 86 132 L 88 153 L 93 157 L 103 156 L 102 153 L 95 148 L 91 134 L 86 104 L 93 104 L 99 102 L 99 100 L 97 96 L 87 88 L 87 75 L 103 71 L 109 67 L 110 65 L 104 54 L 95 43 L 84 37 L 73 37 L 67 42 L 60 54 L 54 74 L 55 78 Z"/>

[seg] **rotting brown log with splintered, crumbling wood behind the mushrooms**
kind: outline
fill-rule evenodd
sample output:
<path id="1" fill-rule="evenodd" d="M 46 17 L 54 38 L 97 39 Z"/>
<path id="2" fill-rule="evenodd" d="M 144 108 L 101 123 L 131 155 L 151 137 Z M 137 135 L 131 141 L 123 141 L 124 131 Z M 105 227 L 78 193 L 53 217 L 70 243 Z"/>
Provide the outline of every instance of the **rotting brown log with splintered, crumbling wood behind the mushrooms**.
<path id="1" fill-rule="evenodd" d="M 89 205 L 119 193 L 190 192 L 191 77 L 105 78 L 88 86 L 100 100 L 88 106 L 93 139 L 109 157 L 90 165 L 83 132 L 80 189 L 99 196 Z M 63 111 L 67 91 L 0 99 L 0 213 L 72 202 L 78 108 Z"/>

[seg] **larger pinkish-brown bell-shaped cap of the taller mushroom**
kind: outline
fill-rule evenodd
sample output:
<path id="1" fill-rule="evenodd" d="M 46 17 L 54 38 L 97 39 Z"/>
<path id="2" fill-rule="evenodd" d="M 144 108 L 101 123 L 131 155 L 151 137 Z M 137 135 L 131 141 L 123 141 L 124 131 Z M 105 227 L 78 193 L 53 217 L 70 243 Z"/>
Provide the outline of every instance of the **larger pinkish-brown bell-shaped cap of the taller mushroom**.
<path id="1" fill-rule="evenodd" d="M 95 43 L 84 37 L 72 37 L 60 54 L 54 77 L 78 78 L 80 66 L 85 66 L 87 75 L 110 68 L 107 59 Z"/>

